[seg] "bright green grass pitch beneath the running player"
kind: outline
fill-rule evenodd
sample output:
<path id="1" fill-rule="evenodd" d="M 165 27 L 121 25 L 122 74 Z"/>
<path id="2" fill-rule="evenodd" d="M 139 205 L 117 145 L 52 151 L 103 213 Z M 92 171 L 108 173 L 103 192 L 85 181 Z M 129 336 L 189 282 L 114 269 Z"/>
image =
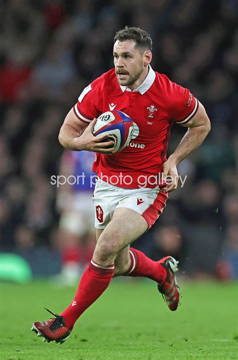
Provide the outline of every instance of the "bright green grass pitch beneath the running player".
<path id="1" fill-rule="evenodd" d="M 1 284 L 1 359 L 234 359 L 237 358 L 237 286 L 181 284 L 181 306 L 171 312 L 152 281 L 115 279 L 78 320 L 62 345 L 30 329 L 60 313 L 75 293 L 47 281 Z"/>

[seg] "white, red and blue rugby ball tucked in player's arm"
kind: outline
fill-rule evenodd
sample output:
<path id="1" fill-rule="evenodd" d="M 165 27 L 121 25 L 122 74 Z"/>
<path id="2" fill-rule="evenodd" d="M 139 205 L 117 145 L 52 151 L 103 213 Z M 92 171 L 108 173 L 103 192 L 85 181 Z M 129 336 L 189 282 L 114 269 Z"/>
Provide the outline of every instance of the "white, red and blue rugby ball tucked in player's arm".
<path id="1" fill-rule="evenodd" d="M 123 150 L 131 141 L 134 125 L 132 119 L 122 111 L 106 111 L 98 116 L 93 126 L 94 136 L 109 135 L 114 141 L 115 152 Z"/>

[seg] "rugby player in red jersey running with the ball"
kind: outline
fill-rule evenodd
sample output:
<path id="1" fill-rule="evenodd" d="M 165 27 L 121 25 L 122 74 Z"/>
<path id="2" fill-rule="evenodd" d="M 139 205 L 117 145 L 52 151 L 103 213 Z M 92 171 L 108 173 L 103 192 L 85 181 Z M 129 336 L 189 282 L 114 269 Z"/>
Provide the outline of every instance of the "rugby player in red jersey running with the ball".
<path id="1" fill-rule="evenodd" d="M 170 310 L 179 305 L 177 261 L 171 256 L 153 261 L 131 244 L 162 213 L 168 193 L 178 185 L 177 164 L 201 145 L 210 122 L 188 89 L 152 69 L 152 40 L 145 31 L 134 27 L 118 31 L 113 58 L 114 69 L 83 90 L 59 133 L 63 147 L 96 153 L 93 171 L 98 178 L 93 201 L 97 243 L 67 309 L 53 314 L 54 319 L 33 324 L 32 330 L 45 341 L 64 342 L 76 320 L 115 276 L 152 279 Z M 114 143 L 106 142 L 106 136 L 92 135 L 95 119 L 112 110 L 129 115 L 135 128 L 129 146 L 118 153 L 113 153 Z M 167 159 L 174 122 L 187 132 Z M 164 181 L 167 175 L 170 184 Z"/>

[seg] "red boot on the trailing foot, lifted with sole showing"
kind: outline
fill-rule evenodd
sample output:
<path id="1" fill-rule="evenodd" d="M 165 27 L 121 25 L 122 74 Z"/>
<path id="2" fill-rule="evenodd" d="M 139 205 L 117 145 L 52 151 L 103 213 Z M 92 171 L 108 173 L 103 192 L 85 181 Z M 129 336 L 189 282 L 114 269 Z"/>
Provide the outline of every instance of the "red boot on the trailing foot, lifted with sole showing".
<path id="1" fill-rule="evenodd" d="M 178 271 L 178 261 L 172 256 L 166 256 L 159 260 L 158 263 L 160 263 L 167 272 L 164 283 L 158 284 L 158 290 L 162 294 L 169 309 L 175 311 L 180 305 L 179 298 L 182 297 L 182 295 L 179 295 L 179 287 L 177 286 L 175 276 L 175 273 Z"/>

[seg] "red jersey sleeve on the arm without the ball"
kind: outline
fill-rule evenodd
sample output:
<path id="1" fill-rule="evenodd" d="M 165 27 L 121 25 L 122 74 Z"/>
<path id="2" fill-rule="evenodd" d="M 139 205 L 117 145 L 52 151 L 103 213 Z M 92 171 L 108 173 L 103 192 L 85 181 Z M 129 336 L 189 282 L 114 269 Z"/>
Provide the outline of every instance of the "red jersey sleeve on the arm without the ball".
<path id="1" fill-rule="evenodd" d="M 171 83 L 171 117 L 178 124 L 186 124 L 196 115 L 199 103 L 189 89 Z"/>

